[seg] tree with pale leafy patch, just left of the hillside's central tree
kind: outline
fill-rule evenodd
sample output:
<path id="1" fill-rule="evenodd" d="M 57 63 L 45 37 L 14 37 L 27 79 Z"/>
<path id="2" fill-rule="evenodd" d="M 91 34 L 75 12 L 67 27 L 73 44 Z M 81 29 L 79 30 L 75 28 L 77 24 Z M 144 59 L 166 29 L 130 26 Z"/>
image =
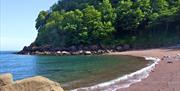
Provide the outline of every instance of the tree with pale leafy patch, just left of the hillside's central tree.
<path id="1" fill-rule="evenodd" d="M 79 44 L 83 13 L 76 9 L 75 11 L 66 12 L 64 17 L 61 31 L 66 35 L 65 44 L 67 46 Z"/>

